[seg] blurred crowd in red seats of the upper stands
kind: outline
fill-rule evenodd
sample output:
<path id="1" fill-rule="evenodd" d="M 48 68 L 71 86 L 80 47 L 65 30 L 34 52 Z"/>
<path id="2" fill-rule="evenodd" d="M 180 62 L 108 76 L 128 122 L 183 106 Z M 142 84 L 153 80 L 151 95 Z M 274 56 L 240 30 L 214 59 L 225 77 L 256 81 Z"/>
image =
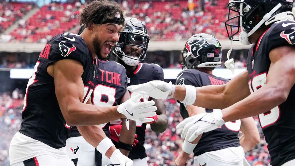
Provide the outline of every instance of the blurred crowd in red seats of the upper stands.
<path id="1" fill-rule="evenodd" d="M 122 6 L 125 17 L 142 20 L 154 40 L 186 40 L 196 33 L 209 33 L 225 39 L 227 3 L 224 0 L 123 0 Z M 26 3 L 0 2 L 0 34 L 1 29 L 3 31 L 19 20 L 12 32 L 0 36 L 0 41 L 46 42 L 63 32 L 77 33 L 79 14 L 85 5 L 87 2 L 81 4 L 80 1 L 50 3 L 38 9 Z M 32 8 L 36 12 L 33 11 L 29 18 L 22 18 Z"/>

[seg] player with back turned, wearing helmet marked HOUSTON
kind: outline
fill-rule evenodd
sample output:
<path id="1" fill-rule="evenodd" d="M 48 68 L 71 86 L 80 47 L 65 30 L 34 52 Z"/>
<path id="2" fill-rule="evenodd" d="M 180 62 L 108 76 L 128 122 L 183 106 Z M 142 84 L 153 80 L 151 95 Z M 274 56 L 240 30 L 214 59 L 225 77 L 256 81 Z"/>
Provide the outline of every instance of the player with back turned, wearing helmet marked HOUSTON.
<path id="1" fill-rule="evenodd" d="M 182 51 L 183 70 L 179 73 L 177 85 L 223 85 L 229 80 L 212 75 L 215 67 L 221 65 L 221 45 L 210 34 L 195 34 L 185 44 Z M 179 101 L 178 101 L 179 102 Z M 212 113 L 214 109 L 205 109 L 180 103 L 180 114 L 185 119 L 200 113 Z M 239 130 L 243 136 L 239 140 Z M 202 137 L 201 137 L 202 136 Z M 199 140 L 199 141 L 198 141 Z M 252 117 L 226 122 L 220 128 L 203 133 L 196 141 L 185 141 L 183 149 L 175 160 L 177 166 L 183 166 L 194 152 L 194 165 L 244 165 L 246 151 L 259 143 L 260 137 Z M 197 144 L 198 143 L 198 144 Z M 242 148 L 243 147 L 243 148 Z M 246 159 L 245 159 L 246 160 Z"/>

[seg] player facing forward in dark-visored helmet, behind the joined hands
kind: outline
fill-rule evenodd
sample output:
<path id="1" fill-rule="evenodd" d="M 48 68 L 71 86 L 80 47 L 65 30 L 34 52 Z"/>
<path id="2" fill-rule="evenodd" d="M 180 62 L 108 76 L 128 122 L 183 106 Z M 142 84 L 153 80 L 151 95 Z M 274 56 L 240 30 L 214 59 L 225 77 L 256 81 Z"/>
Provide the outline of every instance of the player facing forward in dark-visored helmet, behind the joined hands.
<path id="1" fill-rule="evenodd" d="M 151 80 L 163 80 L 163 69 L 159 65 L 140 63 L 146 57 L 149 42 L 145 25 L 137 18 L 126 18 L 125 24 L 113 53 L 116 55 L 116 61 L 126 68 L 127 86 Z M 135 93 L 131 94 L 131 96 L 133 95 Z M 168 124 L 164 103 L 162 100 L 152 99 L 147 95 L 141 98 L 141 101 L 150 100 L 154 100 L 155 106 L 158 108 L 157 115 L 152 117 L 154 121 L 150 122 L 151 129 L 154 132 L 164 132 Z M 134 165 L 148 165 L 144 148 L 146 125 L 146 123 L 136 121 L 136 134 L 139 143 L 132 148 L 128 156 L 133 160 Z"/>

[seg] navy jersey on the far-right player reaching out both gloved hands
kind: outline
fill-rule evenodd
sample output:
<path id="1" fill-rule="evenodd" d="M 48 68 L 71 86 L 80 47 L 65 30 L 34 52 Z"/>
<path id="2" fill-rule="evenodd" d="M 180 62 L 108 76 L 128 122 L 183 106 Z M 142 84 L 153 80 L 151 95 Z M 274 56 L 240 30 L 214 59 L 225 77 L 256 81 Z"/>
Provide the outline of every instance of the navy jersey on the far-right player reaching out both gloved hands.
<path id="1" fill-rule="evenodd" d="M 248 53 L 247 70 L 251 93 L 265 85 L 269 71 L 269 52 L 280 46 L 295 45 L 295 22 L 283 20 L 274 23 L 258 39 Z M 282 66 L 283 67 L 283 66 Z M 282 73 L 284 74 L 284 73 Z M 279 83 L 279 82 L 278 82 Z M 295 159 L 295 88 L 290 90 L 287 100 L 266 113 L 258 115 L 272 166 Z"/>

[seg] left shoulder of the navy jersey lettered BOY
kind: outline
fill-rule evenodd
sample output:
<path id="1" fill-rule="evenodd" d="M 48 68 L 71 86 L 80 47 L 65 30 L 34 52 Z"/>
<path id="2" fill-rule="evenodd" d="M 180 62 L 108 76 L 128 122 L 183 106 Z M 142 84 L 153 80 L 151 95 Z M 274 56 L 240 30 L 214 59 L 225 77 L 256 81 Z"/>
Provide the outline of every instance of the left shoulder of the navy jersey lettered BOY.
<path id="1" fill-rule="evenodd" d="M 201 87 L 201 72 L 196 69 L 186 69 L 178 74 L 176 77 L 176 85 L 192 85 Z"/>

